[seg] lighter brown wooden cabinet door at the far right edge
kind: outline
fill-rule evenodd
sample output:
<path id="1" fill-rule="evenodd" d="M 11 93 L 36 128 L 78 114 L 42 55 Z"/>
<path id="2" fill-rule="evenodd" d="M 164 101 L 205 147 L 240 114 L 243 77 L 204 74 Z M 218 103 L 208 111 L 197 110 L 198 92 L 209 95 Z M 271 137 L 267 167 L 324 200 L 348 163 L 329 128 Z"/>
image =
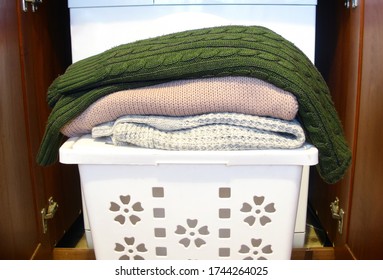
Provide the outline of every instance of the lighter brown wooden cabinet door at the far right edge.
<path id="1" fill-rule="evenodd" d="M 347 244 L 357 259 L 383 259 L 383 2 L 364 5 L 355 174 Z"/>

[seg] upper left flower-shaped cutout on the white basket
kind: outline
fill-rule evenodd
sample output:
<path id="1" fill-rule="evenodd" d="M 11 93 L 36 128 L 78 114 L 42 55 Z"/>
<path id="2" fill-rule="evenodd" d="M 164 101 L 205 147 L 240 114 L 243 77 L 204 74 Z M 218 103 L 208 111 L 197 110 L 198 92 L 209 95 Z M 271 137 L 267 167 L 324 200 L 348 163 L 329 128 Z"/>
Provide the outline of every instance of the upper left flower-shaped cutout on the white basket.
<path id="1" fill-rule="evenodd" d="M 111 202 L 109 210 L 116 212 L 118 215 L 114 218 L 115 221 L 119 222 L 121 225 L 125 224 L 126 219 L 135 225 L 141 219 L 134 212 L 141 212 L 144 210 L 140 202 L 134 204 L 130 203 L 130 195 L 120 195 L 120 202 Z"/>

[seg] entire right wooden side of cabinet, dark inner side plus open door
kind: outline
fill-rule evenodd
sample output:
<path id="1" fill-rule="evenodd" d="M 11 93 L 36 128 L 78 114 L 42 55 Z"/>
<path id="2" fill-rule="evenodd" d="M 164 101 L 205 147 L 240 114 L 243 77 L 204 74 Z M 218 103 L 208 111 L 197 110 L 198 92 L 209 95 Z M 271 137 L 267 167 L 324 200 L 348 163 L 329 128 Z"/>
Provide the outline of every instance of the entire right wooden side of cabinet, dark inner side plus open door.
<path id="1" fill-rule="evenodd" d="M 318 1 L 324 9 L 317 17 L 323 34 L 317 58 L 353 151 L 352 166 L 334 186 L 314 174 L 310 200 L 336 258 L 383 259 L 383 2 L 361 0 L 355 9 L 346 9 L 343 2 Z M 342 234 L 330 214 L 335 197 L 345 211 Z"/>

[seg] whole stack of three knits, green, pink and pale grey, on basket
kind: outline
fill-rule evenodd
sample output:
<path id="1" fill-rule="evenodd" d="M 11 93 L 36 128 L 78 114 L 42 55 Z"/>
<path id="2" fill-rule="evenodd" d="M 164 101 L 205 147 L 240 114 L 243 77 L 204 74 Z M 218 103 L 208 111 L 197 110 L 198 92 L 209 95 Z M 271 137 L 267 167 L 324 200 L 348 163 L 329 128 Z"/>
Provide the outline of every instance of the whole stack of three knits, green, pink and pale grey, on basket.
<path id="1" fill-rule="evenodd" d="M 292 43 L 260 26 L 188 30 L 76 62 L 48 90 L 53 108 L 37 157 L 63 136 L 166 150 L 319 150 L 338 181 L 351 153 L 328 88 Z M 299 120 L 299 121 L 298 121 Z"/>

